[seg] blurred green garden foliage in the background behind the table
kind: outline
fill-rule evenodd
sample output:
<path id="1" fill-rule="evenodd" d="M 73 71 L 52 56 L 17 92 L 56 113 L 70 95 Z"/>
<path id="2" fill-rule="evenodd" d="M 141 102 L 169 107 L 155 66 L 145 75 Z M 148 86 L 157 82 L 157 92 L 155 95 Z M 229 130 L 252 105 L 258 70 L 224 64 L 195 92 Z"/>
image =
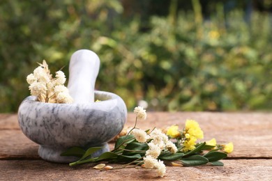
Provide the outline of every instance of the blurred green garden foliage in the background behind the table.
<path id="1" fill-rule="evenodd" d="M 29 95 L 36 62 L 52 73 L 64 65 L 68 77 L 77 49 L 98 54 L 96 89 L 120 95 L 130 111 L 139 100 L 156 111 L 270 111 L 269 15 L 254 12 L 249 25 L 234 10 L 226 29 L 220 3 L 209 22 L 175 3 L 143 20 L 118 0 L 0 1 L 0 112 L 16 112 Z"/>

